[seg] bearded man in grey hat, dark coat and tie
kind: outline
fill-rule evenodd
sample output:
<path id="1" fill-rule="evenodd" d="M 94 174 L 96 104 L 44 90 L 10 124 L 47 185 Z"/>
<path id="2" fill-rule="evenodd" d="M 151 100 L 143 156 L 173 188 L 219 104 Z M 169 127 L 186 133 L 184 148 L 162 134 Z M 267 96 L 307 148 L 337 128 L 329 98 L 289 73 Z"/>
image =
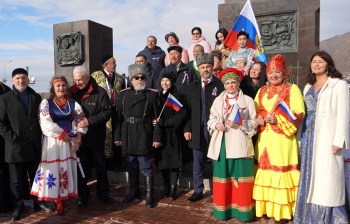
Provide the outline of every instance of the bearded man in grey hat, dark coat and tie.
<path id="1" fill-rule="evenodd" d="M 188 202 L 196 202 L 203 198 L 204 162 L 207 158 L 209 133 L 207 121 L 214 99 L 224 90 L 220 79 L 213 76 L 214 57 L 204 53 L 196 57 L 196 63 L 201 74 L 200 81 L 193 82 L 187 94 L 190 118 L 184 129 L 184 136 L 193 149 L 193 182 L 194 193 Z"/>

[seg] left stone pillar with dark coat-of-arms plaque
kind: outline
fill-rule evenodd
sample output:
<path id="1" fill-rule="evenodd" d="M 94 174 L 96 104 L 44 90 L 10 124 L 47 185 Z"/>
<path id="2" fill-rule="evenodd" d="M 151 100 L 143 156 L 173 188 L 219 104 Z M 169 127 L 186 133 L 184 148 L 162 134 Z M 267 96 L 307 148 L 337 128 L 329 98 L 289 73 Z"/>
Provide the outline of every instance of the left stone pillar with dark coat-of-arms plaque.
<path id="1" fill-rule="evenodd" d="M 101 69 L 101 58 L 113 55 L 113 29 L 90 20 L 53 25 L 55 75 L 64 75 L 72 84 L 75 66 L 90 73 Z"/>

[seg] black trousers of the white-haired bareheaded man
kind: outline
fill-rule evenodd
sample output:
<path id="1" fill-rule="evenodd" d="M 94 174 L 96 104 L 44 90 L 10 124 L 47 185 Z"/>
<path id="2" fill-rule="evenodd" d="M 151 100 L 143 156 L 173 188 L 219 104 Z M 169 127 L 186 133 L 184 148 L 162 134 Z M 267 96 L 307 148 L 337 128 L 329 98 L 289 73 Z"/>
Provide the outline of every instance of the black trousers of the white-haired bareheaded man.
<path id="1" fill-rule="evenodd" d="M 106 162 L 104 157 L 104 146 L 100 147 L 83 147 L 77 151 L 77 156 L 80 159 L 80 163 L 83 167 L 85 178 L 81 176 L 80 169 L 78 168 L 78 193 L 79 197 L 88 200 L 90 196 L 90 190 L 87 186 L 88 180 L 91 178 L 91 162 L 92 166 L 95 167 L 97 185 L 96 193 L 98 197 L 103 198 L 108 194 L 109 182 L 107 175 Z"/>

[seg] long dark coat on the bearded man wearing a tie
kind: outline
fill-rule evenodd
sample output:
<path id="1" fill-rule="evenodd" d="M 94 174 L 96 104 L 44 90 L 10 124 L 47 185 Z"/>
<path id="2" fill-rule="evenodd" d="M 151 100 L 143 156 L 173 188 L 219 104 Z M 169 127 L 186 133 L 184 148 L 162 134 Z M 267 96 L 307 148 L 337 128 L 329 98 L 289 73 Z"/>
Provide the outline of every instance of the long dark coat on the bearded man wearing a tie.
<path id="1" fill-rule="evenodd" d="M 212 81 L 208 83 L 205 88 L 205 101 L 206 101 L 206 117 L 209 119 L 210 108 L 217 96 L 224 90 L 224 85 L 221 80 L 212 76 Z M 205 139 L 201 139 L 201 91 L 202 91 L 202 81 L 195 81 L 189 87 L 189 93 L 187 94 L 187 104 L 190 116 L 187 120 L 184 132 L 191 132 L 192 139 L 189 141 L 188 146 L 193 149 L 206 148 L 208 142 Z M 207 130 L 205 130 L 207 131 Z M 201 147 L 205 144 L 205 147 Z M 206 149 L 207 150 L 207 149 Z"/>

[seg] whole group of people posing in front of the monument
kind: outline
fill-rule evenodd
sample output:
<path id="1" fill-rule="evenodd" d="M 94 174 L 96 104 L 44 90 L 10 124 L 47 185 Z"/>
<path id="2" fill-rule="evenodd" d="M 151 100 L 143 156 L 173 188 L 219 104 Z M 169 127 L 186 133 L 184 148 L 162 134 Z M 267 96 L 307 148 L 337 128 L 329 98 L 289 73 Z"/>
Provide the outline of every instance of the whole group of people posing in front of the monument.
<path id="1" fill-rule="evenodd" d="M 28 86 L 26 70 L 13 71 L 13 89 L 2 87 L 0 96 L 1 153 L 10 177 L 1 187 L 11 189 L 13 221 L 22 213 L 26 173 L 35 210 L 54 211 L 45 203 L 51 201 L 64 214 L 69 197 L 87 206 L 89 161 L 99 199 L 113 203 L 105 158 L 117 147 L 130 183 L 123 203 L 141 196 L 141 170 L 146 206 L 155 206 L 154 165 L 162 173 L 163 197 L 176 200 L 192 151 L 188 202 L 203 198 L 204 165 L 211 159 L 218 220 L 348 223 L 342 149 L 349 148 L 349 90 L 331 56 L 312 55 L 302 94 L 286 82 L 282 55 L 267 65 L 254 61 L 248 33 L 239 32 L 239 49 L 231 50 L 223 44 L 227 31 L 218 30 L 211 52 L 202 30 L 191 32 L 187 51 L 175 33 L 165 35 L 167 54 L 149 36 L 128 67 L 127 88 L 111 55 L 91 75 L 76 67 L 70 88 L 64 76 L 54 76 L 44 100 Z M 6 164 L 0 164 L 4 174 Z"/>

